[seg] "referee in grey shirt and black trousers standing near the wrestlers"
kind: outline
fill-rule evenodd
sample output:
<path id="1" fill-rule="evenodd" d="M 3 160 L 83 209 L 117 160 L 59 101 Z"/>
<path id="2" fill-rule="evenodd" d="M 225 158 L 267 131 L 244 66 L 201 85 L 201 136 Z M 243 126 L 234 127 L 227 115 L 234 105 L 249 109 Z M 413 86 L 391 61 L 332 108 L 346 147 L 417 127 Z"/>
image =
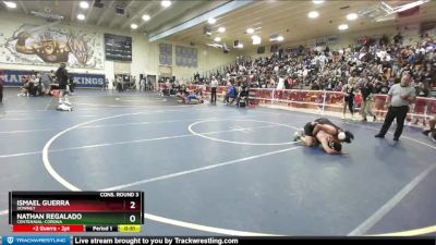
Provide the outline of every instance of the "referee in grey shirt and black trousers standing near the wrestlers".
<path id="1" fill-rule="evenodd" d="M 408 115 L 409 105 L 415 99 L 415 89 L 410 86 L 412 81 L 412 71 L 403 72 L 403 76 L 400 84 L 395 84 L 390 87 L 387 105 L 389 106 L 388 113 L 386 114 L 385 122 L 380 128 L 380 132 L 375 135 L 377 138 L 384 138 L 388 132 L 390 124 L 393 119 L 397 119 L 397 130 L 393 134 L 393 140 L 398 142 L 404 126 L 405 117 Z"/>

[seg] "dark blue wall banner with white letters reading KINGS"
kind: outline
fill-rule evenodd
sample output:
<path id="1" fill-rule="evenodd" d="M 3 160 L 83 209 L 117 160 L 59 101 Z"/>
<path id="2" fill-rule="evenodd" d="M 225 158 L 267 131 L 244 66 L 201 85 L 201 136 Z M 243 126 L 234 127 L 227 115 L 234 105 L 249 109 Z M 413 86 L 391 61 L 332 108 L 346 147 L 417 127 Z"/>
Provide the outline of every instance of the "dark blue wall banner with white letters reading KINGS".
<path id="1" fill-rule="evenodd" d="M 31 71 L 23 70 L 2 70 L 4 72 L 4 86 L 7 87 L 21 87 L 23 86 L 23 76 L 28 75 Z M 88 73 L 70 73 L 73 77 L 76 87 L 101 88 L 105 83 L 104 74 L 88 74 Z"/>

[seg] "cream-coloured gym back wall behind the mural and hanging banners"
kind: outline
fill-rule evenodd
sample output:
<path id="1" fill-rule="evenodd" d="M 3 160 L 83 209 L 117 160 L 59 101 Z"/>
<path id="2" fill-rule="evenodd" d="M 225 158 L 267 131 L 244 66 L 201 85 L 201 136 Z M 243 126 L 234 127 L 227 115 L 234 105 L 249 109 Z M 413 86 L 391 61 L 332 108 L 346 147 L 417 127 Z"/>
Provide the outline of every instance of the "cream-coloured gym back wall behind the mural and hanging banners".
<path id="1" fill-rule="evenodd" d="M 45 32 L 47 29 L 50 32 Z M 190 78 L 194 72 L 209 71 L 222 64 L 228 64 L 234 61 L 237 56 L 223 53 L 222 50 L 203 45 L 190 46 L 189 44 L 166 40 L 148 42 L 148 37 L 142 33 L 119 32 L 86 24 L 49 23 L 39 17 L 0 11 L 0 69 L 50 71 L 59 66 L 58 63 L 43 61 L 37 54 L 16 50 L 16 37 L 23 30 L 34 32 L 35 39 L 45 38 L 44 35 L 48 35 L 47 38 L 55 36 L 64 42 L 73 39 L 77 49 L 74 50 L 75 53 L 70 52 L 69 54 L 69 70 L 74 73 L 105 74 L 109 79 L 116 73 L 118 61 L 105 59 L 105 33 L 132 37 L 133 54 L 130 71 L 132 75 L 136 76 L 137 82 L 140 74 L 159 75 L 159 42 L 172 45 L 172 75 L 178 78 Z M 32 42 L 32 37 L 27 41 Z M 29 45 L 27 41 L 26 46 Z M 175 65 L 175 46 L 196 48 L 197 68 Z"/>

